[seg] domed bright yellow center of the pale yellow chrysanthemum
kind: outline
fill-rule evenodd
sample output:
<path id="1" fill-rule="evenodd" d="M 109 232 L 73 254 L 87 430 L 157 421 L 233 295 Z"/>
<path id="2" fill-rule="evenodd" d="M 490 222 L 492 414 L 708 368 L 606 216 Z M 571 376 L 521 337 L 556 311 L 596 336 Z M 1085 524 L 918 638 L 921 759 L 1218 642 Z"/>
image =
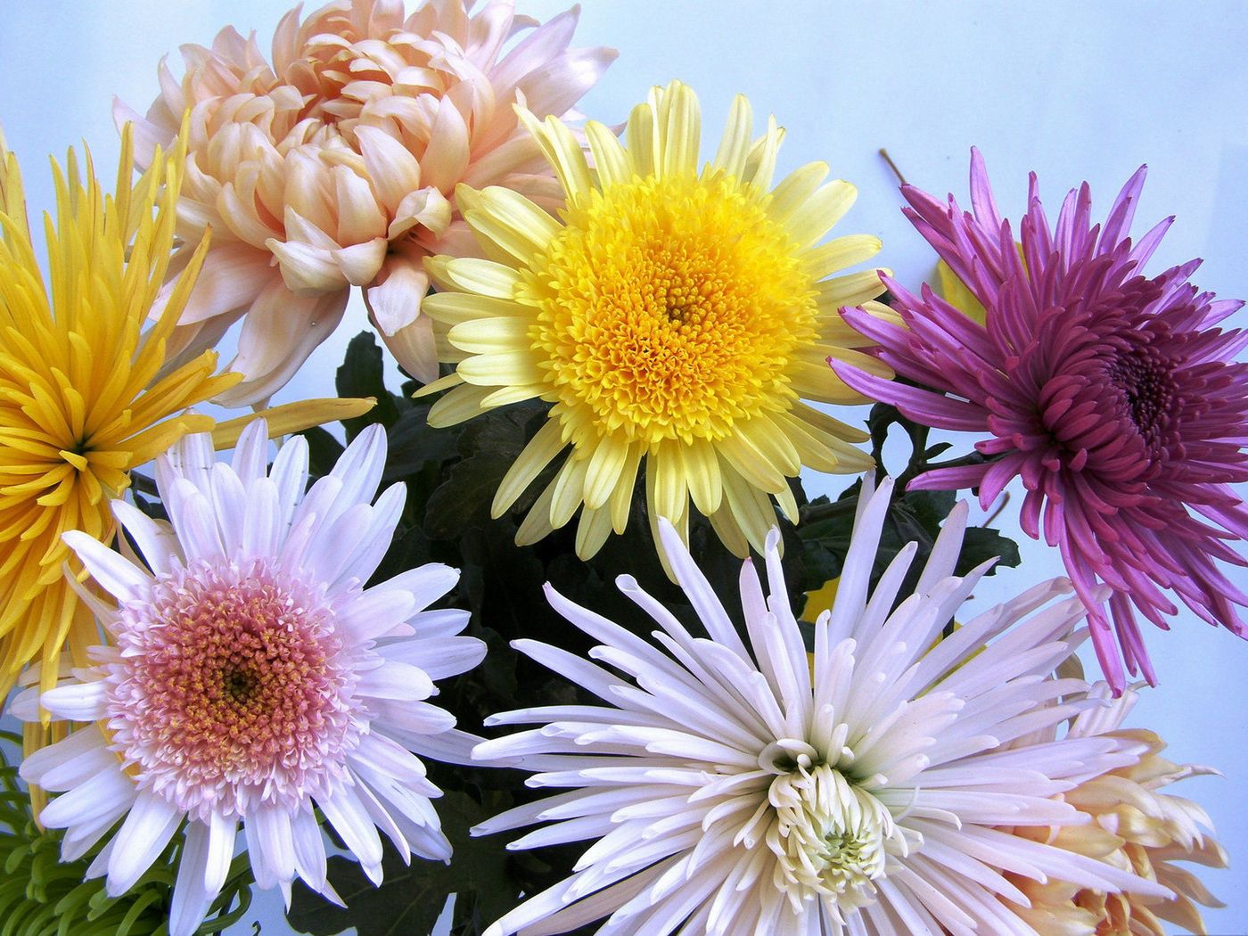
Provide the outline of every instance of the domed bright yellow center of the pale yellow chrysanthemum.
<path id="1" fill-rule="evenodd" d="M 795 398 L 817 338 L 800 245 L 735 178 L 635 178 L 568 208 L 519 298 L 563 416 L 648 444 L 720 439 Z M 567 417 L 565 417 L 567 418 Z"/>

